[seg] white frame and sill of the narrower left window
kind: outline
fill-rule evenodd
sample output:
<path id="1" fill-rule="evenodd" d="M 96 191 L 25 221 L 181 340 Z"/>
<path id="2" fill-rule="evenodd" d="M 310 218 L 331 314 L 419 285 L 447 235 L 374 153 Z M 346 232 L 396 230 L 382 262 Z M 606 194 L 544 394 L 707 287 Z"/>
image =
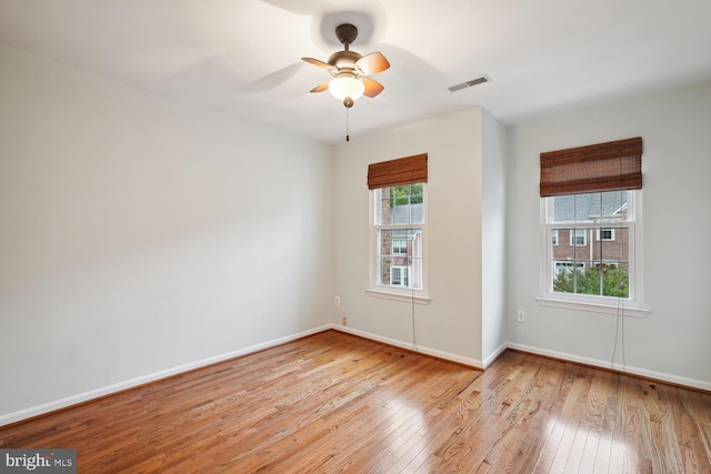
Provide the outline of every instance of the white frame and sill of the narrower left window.
<path id="1" fill-rule="evenodd" d="M 375 224 L 375 212 L 377 205 L 379 202 L 375 202 L 374 199 L 375 193 L 372 191 L 368 192 L 368 220 L 369 220 L 369 281 L 368 288 L 365 289 L 365 294 L 374 297 L 382 297 L 385 300 L 395 300 L 395 301 L 405 301 L 405 302 L 414 302 L 417 304 L 430 304 L 430 296 L 428 293 L 429 282 L 428 282 L 428 221 L 429 221 L 429 199 L 428 199 L 428 185 L 423 183 L 422 185 L 422 212 L 424 216 L 424 223 L 422 224 L 395 224 L 389 225 L 390 229 L 421 229 L 422 230 L 422 289 L 408 289 L 402 288 L 399 289 L 397 286 L 391 285 L 380 285 L 378 284 L 378 239 L 375 235 L 378 234 L 377 230 L 380 225 Z"/>

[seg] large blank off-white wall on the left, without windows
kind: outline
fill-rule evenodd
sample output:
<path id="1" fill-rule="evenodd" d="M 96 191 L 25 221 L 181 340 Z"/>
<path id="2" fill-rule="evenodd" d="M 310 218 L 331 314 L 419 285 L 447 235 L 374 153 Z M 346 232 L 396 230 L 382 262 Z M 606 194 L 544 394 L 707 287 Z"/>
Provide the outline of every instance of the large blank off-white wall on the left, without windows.
<path id="1" fill-rule="evenodd" d="M 0 47 L 0 420 L 328 324 L 329 157 Z"/>

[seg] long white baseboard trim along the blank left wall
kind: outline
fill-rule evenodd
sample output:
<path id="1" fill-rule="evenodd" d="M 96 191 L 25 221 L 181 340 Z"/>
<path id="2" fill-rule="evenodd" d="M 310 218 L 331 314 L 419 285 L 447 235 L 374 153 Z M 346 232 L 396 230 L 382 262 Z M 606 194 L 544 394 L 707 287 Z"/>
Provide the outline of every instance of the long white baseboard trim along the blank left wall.
<path id="1" fill-rule="evenodd" d="M 298 339 L 306 337 L 311 334 L 327 331 L 330 327 L 331 327 L 330 325 L 326 325 L 326 326 L 316 327 L 309 331 L 290 334 L 290 335 L 279 337 L 272 341 L 268 341 L 261 344 L 250 345 L 248 347 L 238 349 L 236 351 L 230 351 L 224 354 L 202 359 L 200 361 L 191 362 L 189 364 L 183 364 L 183 365 L 167 369 L 163 371 L 154 372 L 152 374 L 119 382 L 112 385 L 107 385 L 100 389 L 90 390 L 88 392 L 79 393 L 77 395 L 67 396 L 64 399 L 56 400 L 53 402 L 43 403 L 37 406 L 30 406 L 29 409 L 19 410 L 17 412 L 0 414 L 0 426 L 29 420 L 34 416 L 43 415 L 50 412 L 56 412 L 58 410 L 66 409 L 68 406 L 78 405 L 80 403 L 84 403 L 94 399 L 100 399 L 102 396 L 111 395 L 118 392 L 122 392 L 124 390 L 134 389 L 140 385 L 146 385 L 152 382 L 157 382 L 161 379 L 166 379 L 180 373 L 193 371 L 196 369 L 206 367 L 208 365 L 217 364 L 219 362 L 228 361 L 230 359 L 239 357 L 247 354 L 252 354 L 254 352 L 263 351 L 270 347 L 276 347 L 287 342 L 296 341 Z"/>

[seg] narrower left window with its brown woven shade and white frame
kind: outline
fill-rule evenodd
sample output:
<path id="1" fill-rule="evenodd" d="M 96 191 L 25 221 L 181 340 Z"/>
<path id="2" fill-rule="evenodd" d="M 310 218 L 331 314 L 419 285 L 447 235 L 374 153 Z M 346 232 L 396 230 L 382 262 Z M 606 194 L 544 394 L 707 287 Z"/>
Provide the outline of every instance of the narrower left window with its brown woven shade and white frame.
<path id="1" fill-rule="evenodd" d="M 414 178 L 412 178 L 414 177 Z M 427 303 L 427 154 L 374 163 L 370 188 L 371 295 Z"/>

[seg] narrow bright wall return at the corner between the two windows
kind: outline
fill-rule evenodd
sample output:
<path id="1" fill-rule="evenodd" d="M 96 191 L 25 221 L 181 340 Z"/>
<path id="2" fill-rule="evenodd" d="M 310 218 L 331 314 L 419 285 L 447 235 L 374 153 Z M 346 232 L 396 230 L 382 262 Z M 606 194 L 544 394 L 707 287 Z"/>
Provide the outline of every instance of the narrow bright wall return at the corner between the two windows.
<path id="1" fill-rule="evenodd" d="M 505 347 L 505 129 L 482 110 L 481 316 L 484 365 Z"/>

